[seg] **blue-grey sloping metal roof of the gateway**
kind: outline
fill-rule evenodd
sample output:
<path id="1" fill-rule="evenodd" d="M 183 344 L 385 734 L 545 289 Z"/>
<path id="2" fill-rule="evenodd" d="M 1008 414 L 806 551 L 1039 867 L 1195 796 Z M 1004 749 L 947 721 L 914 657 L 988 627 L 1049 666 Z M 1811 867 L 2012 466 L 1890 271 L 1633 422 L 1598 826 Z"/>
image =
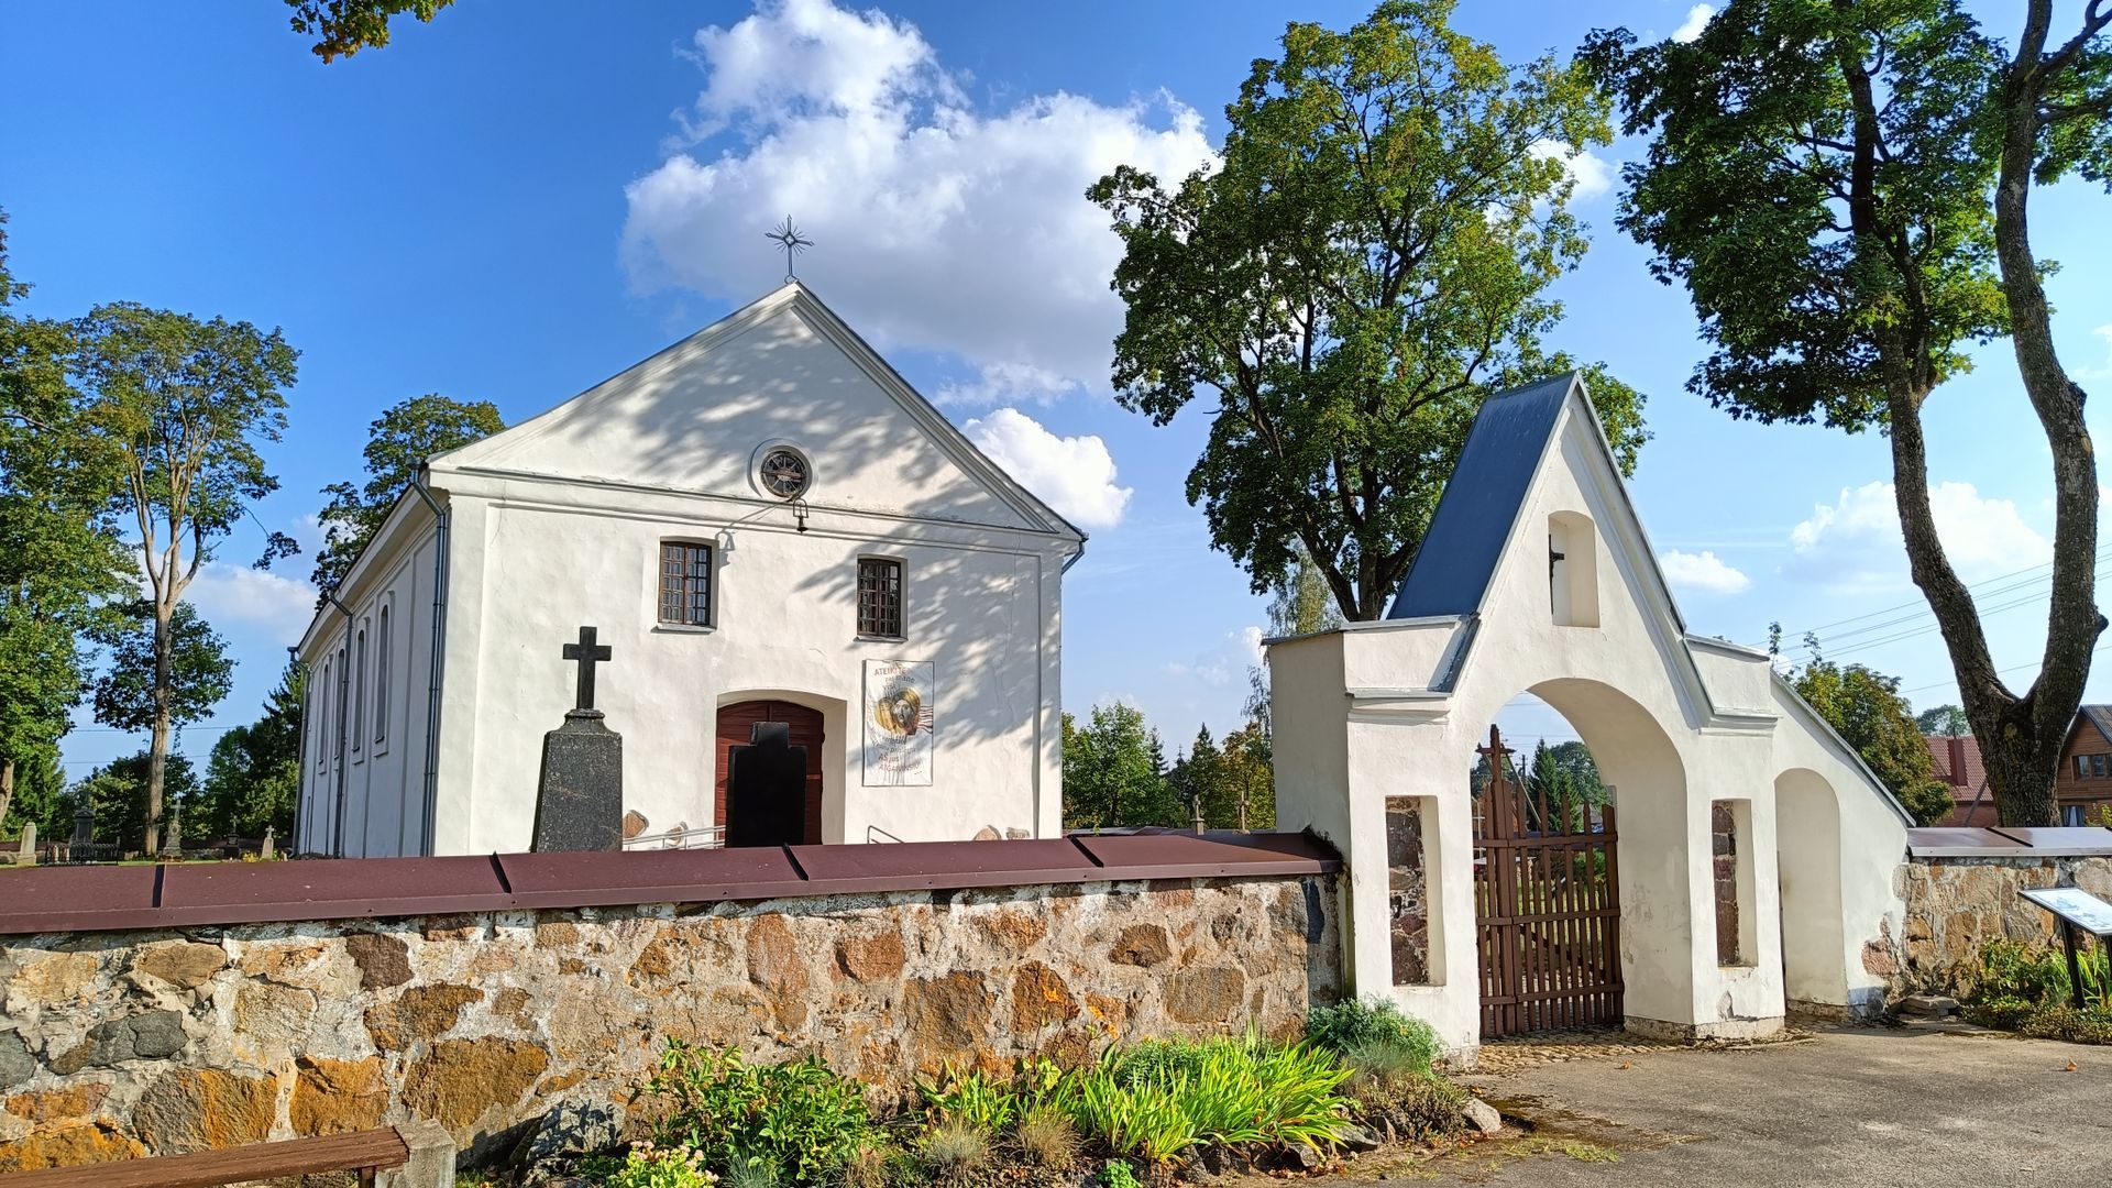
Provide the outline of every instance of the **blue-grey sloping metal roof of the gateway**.
<path id="1" fill-rule="evenodd" d="M 1423 547 L 1385 611 L 1388 619 L 1481 611 L 1510 526 L 1519 522 L 1519 507 L 1576 383 L 1578 374 L 1567 372 L 1483 402 L 1430 516 Z"/>

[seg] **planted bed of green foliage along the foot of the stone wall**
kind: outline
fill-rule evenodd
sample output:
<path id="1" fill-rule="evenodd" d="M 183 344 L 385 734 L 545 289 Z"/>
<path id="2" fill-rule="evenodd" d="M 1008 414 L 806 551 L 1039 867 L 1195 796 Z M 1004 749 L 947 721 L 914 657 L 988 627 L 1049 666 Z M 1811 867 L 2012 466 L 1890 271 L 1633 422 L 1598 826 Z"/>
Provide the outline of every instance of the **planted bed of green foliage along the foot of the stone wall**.
<path id="1" fill-rule="evenodd" d="M 1202 1167 L 1303 1169 L 1375 1133 L 1459 1133 L 1466 1097 L 1432 1072 L 1434 1051 L 1392 1006 L 1345 1004 L 1293 1044 L 1147 1040 L 1077 1068 L 948 1070 L 881 1116 L 817 1057 L 756 1065 L 670 1040 L 644 1084 L 663 1110 L 653 1139 L 579 1171 L 610 1188 L 1124 1188 Z"/>

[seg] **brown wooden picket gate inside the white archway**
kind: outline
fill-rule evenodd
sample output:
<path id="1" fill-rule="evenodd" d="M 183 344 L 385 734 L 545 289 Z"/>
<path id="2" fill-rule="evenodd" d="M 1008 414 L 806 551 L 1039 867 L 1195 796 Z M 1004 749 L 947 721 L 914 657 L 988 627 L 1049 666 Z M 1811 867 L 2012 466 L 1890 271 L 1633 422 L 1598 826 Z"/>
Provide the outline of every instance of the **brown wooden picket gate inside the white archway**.
<path id="1" fill-rule="evenodd" d="M 1474 797 L 1481 1034 L 1620 1025 L 1614 805 L 1535 793 L 1489 727 Z"/>

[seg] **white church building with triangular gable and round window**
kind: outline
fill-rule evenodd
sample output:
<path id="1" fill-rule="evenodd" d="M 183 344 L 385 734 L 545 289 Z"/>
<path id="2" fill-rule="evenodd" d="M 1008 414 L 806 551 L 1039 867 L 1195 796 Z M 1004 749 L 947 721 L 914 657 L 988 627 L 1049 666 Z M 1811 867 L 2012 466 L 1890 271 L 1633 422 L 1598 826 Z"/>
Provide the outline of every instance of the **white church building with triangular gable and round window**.
<path id="1" fill-rule="evenodd" d="M 526 850 L 589 626 L 631 831 L 1056 837 L 1083 543 L 788 281 L 427 463 L 296 649 L 296 850 Z M 803 786 L 729 797 L 779 727 Z"/>

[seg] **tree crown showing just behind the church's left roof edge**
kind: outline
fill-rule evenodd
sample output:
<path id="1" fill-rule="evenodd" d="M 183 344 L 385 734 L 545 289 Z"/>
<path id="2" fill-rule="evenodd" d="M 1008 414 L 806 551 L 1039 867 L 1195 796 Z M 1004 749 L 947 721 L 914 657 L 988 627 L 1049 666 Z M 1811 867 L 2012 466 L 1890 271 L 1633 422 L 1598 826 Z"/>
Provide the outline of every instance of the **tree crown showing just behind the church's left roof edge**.
<path id="1" fill-rule="evenodd" d="M 367 427 L 365 484 L 334 482 L 323 488 L 329 503 L 321 514 L 323 547 L 315 556 L 315 588 L 334 590 L 344 579 L 344 571 L 359 560 L 359 552 L 380 531 L 427 459 L 482 442 L 505 427 L 496 404 L 439 393 L 414 395 L 382 412 Z"/>

